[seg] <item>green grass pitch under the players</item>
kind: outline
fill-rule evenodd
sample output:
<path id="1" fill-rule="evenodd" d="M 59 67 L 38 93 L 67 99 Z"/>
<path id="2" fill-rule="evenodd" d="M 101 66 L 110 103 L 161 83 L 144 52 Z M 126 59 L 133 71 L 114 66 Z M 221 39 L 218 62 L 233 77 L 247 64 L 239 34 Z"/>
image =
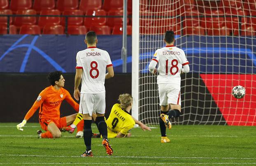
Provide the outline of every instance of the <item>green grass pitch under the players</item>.
<path id="1" fill-rule="evenodd" d="M 38 123 L 0 123 L 0 165 L 256 165 L 256 127 L 173 125 L 171 143 L 161 143 L 159 127 L 131 130 L 132 137 L 109 139 L 108 156 L 102 139 L 92 139 L 94 157 L 79 157 L 83 139 L 63 133 L 60 139 L 37 139 Z M 98 130 L 93 124 L 93 132 Z"/>

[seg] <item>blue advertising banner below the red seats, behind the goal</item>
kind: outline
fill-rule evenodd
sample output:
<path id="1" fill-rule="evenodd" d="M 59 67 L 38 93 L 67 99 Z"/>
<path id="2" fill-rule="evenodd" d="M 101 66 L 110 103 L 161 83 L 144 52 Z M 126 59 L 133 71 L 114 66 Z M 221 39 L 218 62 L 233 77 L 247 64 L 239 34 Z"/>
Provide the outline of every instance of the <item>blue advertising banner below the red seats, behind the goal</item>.
<path id="1" fill-rule="evenodd" d="M 84 35 L 2 35 L 0 72 L 48 73 L 62 70 L 74 73 L 76 54 L 84 50 Z M 156 36 L 140 36 L 151 48 Z M 152 38 L 152 39 L 151 39 Z M 144 43 L 140 43 L 144 47 Z M 226 36 L 183 36 L 175 45 L 186 53 L 191 71 L 196 73 L 256 73 L 256 39 Z M 164 46 L 160 45 L 159 47 Z M 107 50 L 115 73 L 122 73 L 122 35 L 98 36 L 97 47 Z M 143 50 L 140 59 L 151 59 L 152 49 Z M 132 39 L 127 41 L 127 72 L 131 73 Z M 148 64 L 143 64 L 148 72 Z"/>

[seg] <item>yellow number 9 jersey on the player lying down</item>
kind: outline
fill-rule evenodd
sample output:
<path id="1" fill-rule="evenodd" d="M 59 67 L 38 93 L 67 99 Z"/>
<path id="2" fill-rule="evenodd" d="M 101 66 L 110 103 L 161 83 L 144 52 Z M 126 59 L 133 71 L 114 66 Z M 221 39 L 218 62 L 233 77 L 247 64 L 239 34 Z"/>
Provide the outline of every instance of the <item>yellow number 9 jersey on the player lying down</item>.
<path id="1" fill-rule="evenodd" d="M 113 105 L 106 123 L 108 138 L 115 138 L 119 132 L 126 135 L 135 125 L 132 116 L 127 111 L 121 109 L 120 104 Z"/>

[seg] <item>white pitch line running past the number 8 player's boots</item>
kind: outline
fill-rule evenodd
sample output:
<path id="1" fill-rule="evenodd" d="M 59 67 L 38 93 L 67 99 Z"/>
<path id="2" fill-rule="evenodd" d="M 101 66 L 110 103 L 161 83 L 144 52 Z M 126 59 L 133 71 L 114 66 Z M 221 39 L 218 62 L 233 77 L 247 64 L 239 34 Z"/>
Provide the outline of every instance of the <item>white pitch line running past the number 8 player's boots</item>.
<path id="1" fill-rule="evenodd" d="M 19 156 L 19 157 L 80 157 L 80 156 L 54 156 L 54 155 L 9 155 L 0 156 Z M 157 158 L 157 159 L 256 159 L 256 158 L 237 158 L 237 157 L 157 157 L 157 156 L 93 156 L 96 158 Z"/>

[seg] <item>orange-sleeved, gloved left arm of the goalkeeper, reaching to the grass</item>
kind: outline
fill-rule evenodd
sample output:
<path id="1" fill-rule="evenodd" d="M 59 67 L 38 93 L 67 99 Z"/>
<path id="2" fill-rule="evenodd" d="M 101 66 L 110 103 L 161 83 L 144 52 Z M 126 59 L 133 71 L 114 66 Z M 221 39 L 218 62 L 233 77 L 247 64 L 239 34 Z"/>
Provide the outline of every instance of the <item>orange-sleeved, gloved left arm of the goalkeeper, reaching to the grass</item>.
<path id="1" fill-rule="evenodd" d="M 22 127 L 24 127 L 26 125 L 28 119 L 31 118 L 31 116 L 33 116 L 35 114 L 35 111 L 37 111 L 37 109 L 40 107 L 40 105 L 42 105 L 43 101 L 44 101 L 43 95 L 42 95 L 42 93 L 40 93 L 40 95 L 37 97 L 37 100 L 34 102 L 33 106 L 28 110 L 23 121 L 16 126 L 17 130 L 23 131 Z"/>

